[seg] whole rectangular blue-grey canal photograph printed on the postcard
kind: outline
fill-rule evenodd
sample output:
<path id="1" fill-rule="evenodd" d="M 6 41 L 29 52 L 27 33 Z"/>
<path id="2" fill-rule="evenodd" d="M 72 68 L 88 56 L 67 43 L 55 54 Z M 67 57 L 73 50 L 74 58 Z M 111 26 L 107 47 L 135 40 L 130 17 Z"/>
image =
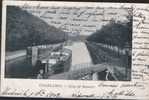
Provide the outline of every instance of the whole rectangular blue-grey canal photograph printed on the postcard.
<path id="1" fill-rule="evenodd" d="M 5 78 L 131 81 L 130 8 L 7 6 Z"/>

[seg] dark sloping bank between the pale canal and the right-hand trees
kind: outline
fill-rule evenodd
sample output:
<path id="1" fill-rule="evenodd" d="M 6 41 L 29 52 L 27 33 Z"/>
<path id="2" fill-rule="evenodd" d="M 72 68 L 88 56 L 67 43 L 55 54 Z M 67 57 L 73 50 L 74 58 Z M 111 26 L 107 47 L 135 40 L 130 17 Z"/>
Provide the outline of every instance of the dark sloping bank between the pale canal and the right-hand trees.
<path id="1" fill-rule="evenodd" d="M 128 80 L 127 78 L 130 75 L 127 72 L 131 67 L 131 50 L 127 51 L 127 49 L 122 48 L 115 50 L 113 46 L 88 41 L 86 41 L 86 45 L 90 51 L 94 64 L 107 62 L 117 65 L 118 67 L 114 68 L 114 74 L 119 80 Z M 121 51 L 124 52 L 120 53 Z"/>

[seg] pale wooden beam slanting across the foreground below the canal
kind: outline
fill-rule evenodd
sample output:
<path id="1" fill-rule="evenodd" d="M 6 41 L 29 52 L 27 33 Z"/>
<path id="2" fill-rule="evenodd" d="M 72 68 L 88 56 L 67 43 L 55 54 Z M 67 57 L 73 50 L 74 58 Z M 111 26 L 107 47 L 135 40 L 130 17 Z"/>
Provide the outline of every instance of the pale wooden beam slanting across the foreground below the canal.
<path id="1" fill-rule="evenodd" d="M 52 75 L 52 76 L 49 76 L 47 78 L 49 78 L 49 79 L 77 80 L 77 79 L 81 79 L 82 77 L 85 77 L 86 75 L 93 76 L 93 74 L 95 74 L 95 73 L 99 73 L 99 72 L 102 72 L 102 71 L 106 70 L 107 74 L 105 75 L 105 80 L 109 80 L 108 76 L 111 75 L 111 77 L 113 77 L 113 79 L 117 81 L 118 79 L 114 75 L 114 73 L 112 72 L 110 67 L 112 68 L 112 67 L 115 67 L 115 66 L 111 66 L 111 65 L 108 65 L 106 63 L 96 64 L 96 65 L 91 65 L 91 66 L 86 67 L 86 68 L 80 68 L 80 69 L 77 69 L 77 70 L 64 72 L 62 74 Z"/>

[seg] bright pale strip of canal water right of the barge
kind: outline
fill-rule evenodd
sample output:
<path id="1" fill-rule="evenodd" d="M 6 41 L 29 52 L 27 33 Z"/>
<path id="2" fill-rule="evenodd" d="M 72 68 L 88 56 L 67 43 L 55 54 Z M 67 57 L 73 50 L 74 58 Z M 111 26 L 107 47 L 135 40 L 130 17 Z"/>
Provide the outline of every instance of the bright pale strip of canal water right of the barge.
<path id="1" fill-rule="evenodd" d="M 77 70 L 80 67 L 88 67 L 92 64 L 92 59 L 84 42 L 74 42 L 65 48 L 72 51 L 72 66 L 70 70 Z"/>

